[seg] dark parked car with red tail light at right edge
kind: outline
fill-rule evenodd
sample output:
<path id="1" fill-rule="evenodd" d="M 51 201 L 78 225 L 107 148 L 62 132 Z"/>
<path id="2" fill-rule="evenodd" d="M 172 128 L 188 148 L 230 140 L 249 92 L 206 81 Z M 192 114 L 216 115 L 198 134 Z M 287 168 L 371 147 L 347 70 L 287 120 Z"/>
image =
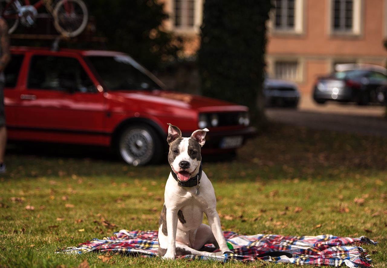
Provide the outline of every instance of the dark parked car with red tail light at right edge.
<path id="1" fill-rule="evenodd" d="M 385 103 L 385 68 L 370 64 L 338 64 L 336 70 L 317 80 L 313 99 L 318 104 L 324 104 L 327 100 L 356 102 L 359 105 L 369 102 Z"/>

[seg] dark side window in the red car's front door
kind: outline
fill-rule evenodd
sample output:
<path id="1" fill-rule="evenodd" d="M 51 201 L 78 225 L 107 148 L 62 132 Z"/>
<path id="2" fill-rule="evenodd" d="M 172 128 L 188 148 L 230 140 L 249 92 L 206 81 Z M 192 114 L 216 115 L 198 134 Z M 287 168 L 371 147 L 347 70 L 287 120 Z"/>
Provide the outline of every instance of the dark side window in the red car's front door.
<path id="1" fill-rule="evenodd" d="M 34 55 L 27 86 L 67 92 L 98 92 L 79 61 L 72 57 Z"/>

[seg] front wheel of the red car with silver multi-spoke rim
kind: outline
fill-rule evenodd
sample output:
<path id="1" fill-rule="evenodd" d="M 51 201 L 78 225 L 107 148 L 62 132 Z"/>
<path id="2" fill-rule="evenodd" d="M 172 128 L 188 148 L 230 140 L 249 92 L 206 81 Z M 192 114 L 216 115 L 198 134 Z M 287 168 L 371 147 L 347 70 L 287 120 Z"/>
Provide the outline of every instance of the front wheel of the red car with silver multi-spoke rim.
<path id="1" fill-rule="evenodd" d="M 118 155 L 133 166 L 157 163 L 162 154 L 158 135 L 146 124 L 124 128 L 117 140 Z"/>

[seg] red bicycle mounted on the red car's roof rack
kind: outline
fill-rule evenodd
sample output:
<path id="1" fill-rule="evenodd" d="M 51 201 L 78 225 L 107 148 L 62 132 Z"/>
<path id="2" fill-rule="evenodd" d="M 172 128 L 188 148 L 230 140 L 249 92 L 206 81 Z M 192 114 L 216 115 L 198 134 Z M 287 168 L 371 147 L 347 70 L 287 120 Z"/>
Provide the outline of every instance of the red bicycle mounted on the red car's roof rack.
<path id="1" fill-rule="evenodd" d="M 0 0 L 0 14 L 7 21 L 9 33 L 13 33 L 19 21 L 25 27 L 34 25 L 39 17 L 47 13 L 39 13 L 38 9 L 46 7 L 54 19 L 58 33 L 65 37 L 75 37 L 86 28 L 89 19 L 86 4 L 82 0 Z"/>

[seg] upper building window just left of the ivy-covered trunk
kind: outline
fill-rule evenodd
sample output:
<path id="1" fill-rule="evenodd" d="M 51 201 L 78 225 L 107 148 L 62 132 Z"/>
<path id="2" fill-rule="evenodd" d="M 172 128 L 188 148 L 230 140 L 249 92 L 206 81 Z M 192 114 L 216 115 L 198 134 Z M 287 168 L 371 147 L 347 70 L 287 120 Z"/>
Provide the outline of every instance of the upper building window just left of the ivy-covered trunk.
<path id="1" fill-rule="evenodd" d="M 195 0 L 174 0 L 175 28 L 193 28 L 195 26 Z"/>

